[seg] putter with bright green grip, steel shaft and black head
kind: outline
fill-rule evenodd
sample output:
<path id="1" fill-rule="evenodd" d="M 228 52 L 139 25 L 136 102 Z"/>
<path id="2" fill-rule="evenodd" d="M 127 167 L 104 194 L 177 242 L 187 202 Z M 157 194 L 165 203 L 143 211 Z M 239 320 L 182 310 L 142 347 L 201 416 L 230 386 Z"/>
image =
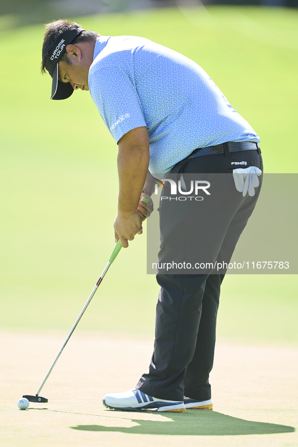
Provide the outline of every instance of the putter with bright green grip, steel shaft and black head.
<path id="1" fill-rule="evenodd" d="M 121 243 L 120 243 L 120 239 L 119 239 L 118 242 L 117 242 L 116 245 L 115 245 L 115 248 L 114 248 L 113 251 L 112 251 L 111 256 L 109 257 L 109 260 L 108 260 L 107 265 L 106 265 L 105 268 L 103 269 L 103 272 L 102 272 L 102 274 L 100 275 L 99 280 L 97 281 L 95 287 L 93 288 L 93 290 L 92 290 L 92 292 L 91 292 L 91 295 L 89 296 L 88 300 L 86 301 L 86 304 L 84 305 L 84 307 L 83 307 L 83 309 L 82 309 L 80 315 L 78 316 L 78 318 L 77 318 L 77 320 L 76 320 L 76 323 L 75 323 L 74 326 L 72 327 L 71 332 L 69 333 L 69 335 L 68 335 L 66 341 L 64 342 L 64 344 L 63 344 L 61 350 L 59 351 L 57 357 L 55 358 L 55 360 L 54 360 L 54 362 L 53 362 L 53 364 L 52 364 L 52 366 L 50 367 L 48 373 L 46 374 L 46 376 L 45 376 L 45 378 L 44 378 L 42 384 L 40 385 L 40 387 L 39 387 L 39 389 L 38 389 L 36 395 L 35 395 L 35 396 L 29 396 L 29 395 L 24 395 L 24 396 L 23 396 L 24 398 L 28 399 L 29 402 L 38 402 L 38 403 L 46 403 L 46 402 L 48 402 L 48 400 L 47 400 L 45 397 L 41 397 L 41 396 L 39 396 L 39 393 L 41 392 L 42 387 L 44 386 L 44 384 L 45 384 L 45 382 L 46 382 L 48 376 L 50 375 L 50 373 L 51 373 L 53 367 L 55 366 L 55 364 L 56 364 L 58 358 L 60 357 L 62 351 L 64 350 L 64 348 L 65 348 L 67 342 L 68 342 L 69 339 L 71 338 L 72 333 L 74 332 L 74 330 L 75 330 L 76 327 L 78 326 L 78 323 L 79 323 L 79 321 L 81 320 L 81 318 L 82 318 L 82 316 L 83 316 L 83 313 L 84 313 L 85 310 L 87 309 L 88 304 L 90 303 L 91 299 L 93 298 L 94 293 L 95 293 L 96 290 L 98 289 L 99 284 L 100 284 L 101 281 L 103 280 L 104 275 L 105 275 L 106 272 L 108 271 L 108 269 L 109 269 L 111 263 L 115 260 L 117 254 L 118 254 L 118 252 L 119 252 L 120 250 L 121 250 Z"/>

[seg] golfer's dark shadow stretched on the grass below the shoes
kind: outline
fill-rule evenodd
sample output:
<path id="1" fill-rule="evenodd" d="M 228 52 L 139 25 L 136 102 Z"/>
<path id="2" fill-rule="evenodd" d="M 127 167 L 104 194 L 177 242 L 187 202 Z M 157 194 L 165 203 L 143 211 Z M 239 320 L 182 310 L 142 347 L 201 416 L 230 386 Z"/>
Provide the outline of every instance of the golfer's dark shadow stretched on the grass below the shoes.
<path id="1" fill-rule="evenodd" d="M 187 413 L 168 414 L 169 421 L 148 421 L 143 419 L 131 419 L 138 425 L 133 427 L 108 427 L 105 425 L 77 425 L 70 427 L 74 430 L 84 431 L 108 431 L 135 434 L 163 434 L 163 435 L 200 435 L 223 436 L 241 434 L 270 434 L 289 433 L 295 431 L 294 427 L 270 424 L 267 422 L 247 421 L 232 416 L 227 416 L 215 411 L 188 411 Z"/>

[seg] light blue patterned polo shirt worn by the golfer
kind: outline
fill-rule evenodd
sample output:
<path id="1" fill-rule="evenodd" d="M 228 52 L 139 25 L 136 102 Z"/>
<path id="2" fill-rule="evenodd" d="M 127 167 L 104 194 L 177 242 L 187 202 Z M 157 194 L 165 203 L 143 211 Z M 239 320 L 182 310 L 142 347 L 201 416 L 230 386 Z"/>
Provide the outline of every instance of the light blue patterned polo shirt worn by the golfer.
<path id="1" fill-rule="evenodd" d="M 147 127 L 152 173 L 169 172 L 196 148 L 260 142 L 197 63 L 143 37 L 99 37 L 88 84 L 116 142 Z"/>

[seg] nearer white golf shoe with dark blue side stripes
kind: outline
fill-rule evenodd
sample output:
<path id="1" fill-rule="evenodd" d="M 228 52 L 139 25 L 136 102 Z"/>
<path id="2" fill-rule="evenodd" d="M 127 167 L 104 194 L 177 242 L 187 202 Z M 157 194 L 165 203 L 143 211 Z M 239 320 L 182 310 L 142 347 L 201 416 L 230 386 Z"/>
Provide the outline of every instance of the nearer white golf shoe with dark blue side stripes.
<path id="1" fill-rule="evenodd" d="M 133 388 L 125 393 L 106 394 L 103 398 L 103 405 L 107 408 L 123 411 L 172 411 L 181 413 L 185 411 L 183 401 L 168 401 L 157 399 L 143 393 L 137 388 Z"/>

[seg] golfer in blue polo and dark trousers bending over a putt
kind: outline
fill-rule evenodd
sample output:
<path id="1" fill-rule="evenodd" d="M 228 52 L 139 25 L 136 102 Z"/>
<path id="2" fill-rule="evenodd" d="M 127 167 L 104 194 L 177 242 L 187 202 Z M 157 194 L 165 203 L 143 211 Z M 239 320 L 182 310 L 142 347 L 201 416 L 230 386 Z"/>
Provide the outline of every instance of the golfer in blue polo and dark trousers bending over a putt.
<path id="1" fill-rule="evenodd" d="M 213 259 L 222 259 L 227 246 L 231 256 L 260 191 L 260 139 L 201 67 L 142 37 L 101 36 L 58 20 L 46 25 L 41 70 L 52 77 L 53 100 L 66 99 L 74 90 L 89 91 L 118 145 L 116 241 L 120 238 L 128 247 L 128 241 L 142 233 L 142 222 L 153 211 L 150 196 L 156 173 L 160 178 L 203 173 L 207 183 L 211 173 L 226 174 L 227 193 L 220 200 L 224 215 L 211 207 L 200 216 L 191 237 L 198 247 L 207 240 Z M 233 178 L 235 166 L 243 169 L 245 185 Z M 162 221 L 172 212 L 169 202 L 161 204 L 159 212 Z M 159 261 L 168 256 L 178 221 L 186 222 L 188 213 L 186 207 L 173 212 L 171 225 L 161 226 Z M 219 225 L 208 233 L 214 222 Z M 194 273 L 159 271 L 149 372 L 132 390 L 104 396 L 105 406 L 173 412 L 212 408 L 209 373 L 225 271 Z"/>

